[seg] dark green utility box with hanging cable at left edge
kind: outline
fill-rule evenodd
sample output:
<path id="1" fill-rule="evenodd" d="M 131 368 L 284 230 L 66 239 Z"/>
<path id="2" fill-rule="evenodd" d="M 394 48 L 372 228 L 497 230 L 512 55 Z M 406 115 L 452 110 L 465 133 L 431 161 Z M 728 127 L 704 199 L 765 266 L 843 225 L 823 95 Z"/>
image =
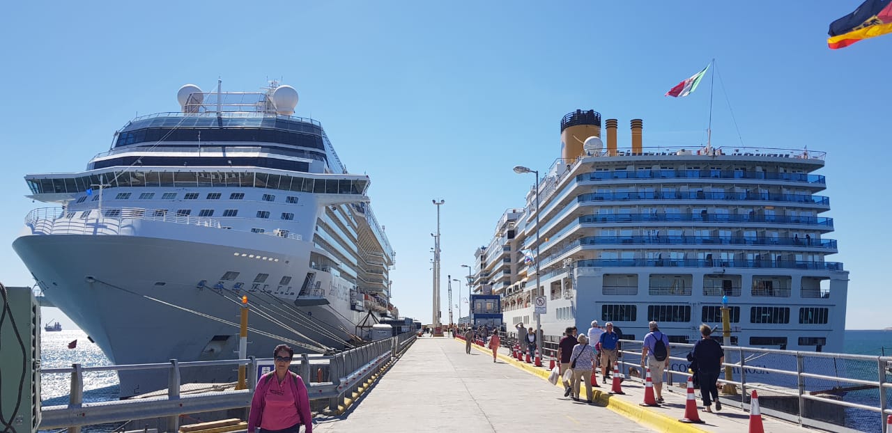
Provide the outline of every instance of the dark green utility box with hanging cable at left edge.
<path id="1" fill-rule="evenodd" d="M 9 306 L 10 310 L 6 312 L 4 322 L 0 323 L 0 347 L 3 347 L 3 355 L 0 356 L 0 374 L 3 375 L 0 408 L 8 420 L 16 404 L 19 404 L 19 411 L 12 416 L 12 427 L 19 433 L 36 432 L 40 424 L 40 306 L 37 306 L 29 287 L 7 287 L 6 301 L 8 303 L 0 306 Z M 13 322 L 18 328 L 18 335 L 13 329 Z M 24 381 L 20 392 L 22 375 Z"/>

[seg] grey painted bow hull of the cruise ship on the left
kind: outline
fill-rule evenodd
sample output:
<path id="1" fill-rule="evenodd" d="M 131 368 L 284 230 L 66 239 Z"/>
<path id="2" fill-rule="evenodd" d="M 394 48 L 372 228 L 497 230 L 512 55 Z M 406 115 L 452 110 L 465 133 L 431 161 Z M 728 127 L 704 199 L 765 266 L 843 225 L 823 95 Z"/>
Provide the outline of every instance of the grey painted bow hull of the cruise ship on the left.
<path id="1" fill-rule="evenodd" d="M 25 235 L 12 246 L 46 298 L 78 323 L 114 364 L 237 358 L 236 299 L 242 294 L 248 295 L 254 312 L 249 317 L 248 355 L 269 357 L 283 340 L 306 345 L 292 343 L 297 352 L 313 352 L 318 350 L 310 347 L 341 348 L 345 340 L 354 339 L 360 317 L 348 306 L 349 290 L 345 295 L 334 289 L 336 284 L 328 284 L 325 298 L 310 302 L 323 305 L 296 306 L 300 287 L 275 285 L 282 275 L 303 282 L 310 270 L 309 242 L 253 233 L 220 237 L 230 235 L 248 237 L 254 244 L 256 238 L 269 238 L 264 241 L 278 248 L 78 234 Z M 282 247 L 287 254 L 279 252 Z M 257 258 L 242 257 L 243 252 Z M 233 290 L 235 281 L 214 289 L 227 272 L 240 274 L 237 281 L 244 282 L 243 290 Z M 253 289 L 257 274 L 268 274 L 272 284 Z M 229 382 L 237 376 L 233 367 L 185 368 L 181 374 L 184 383 Z M 120 372 L 119 377 L 121 397 L 167 386 L 162 371 Z"/>

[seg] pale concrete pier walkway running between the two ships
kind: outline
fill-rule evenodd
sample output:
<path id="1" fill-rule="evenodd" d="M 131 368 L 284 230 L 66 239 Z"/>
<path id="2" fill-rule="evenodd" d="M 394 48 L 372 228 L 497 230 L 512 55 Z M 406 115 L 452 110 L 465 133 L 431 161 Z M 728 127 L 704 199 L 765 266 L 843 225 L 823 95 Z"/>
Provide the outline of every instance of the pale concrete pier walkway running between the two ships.
<path id="1" fill-rule="evenodd" d="M 731 404 L 725 404 L 721 413 L 699 412 L 705 424 L 681 424 L 676 420 L 684 414 L 683 391 L 664 392 L 663 407 L 644 408 L 638 405 L 644 388 L 629 380 L 623 384 L 625 396 L 602 396 L 599 405 L 584 403 L 584 397 L 583 403 L 577 403 L 534 370 L 510 360 L 504 347 L 493 364 L 491 352 L 480 347 L 467 355 L 459 340 L 418 339 L 343 415 L 318 416 L 314 431 L 729 432 L 748 428 L 749 414 Z M 697 396 L 699 404 L 699 391 Z M 765 431 L 814 431 L 764 416 L 763 421 Z"/>

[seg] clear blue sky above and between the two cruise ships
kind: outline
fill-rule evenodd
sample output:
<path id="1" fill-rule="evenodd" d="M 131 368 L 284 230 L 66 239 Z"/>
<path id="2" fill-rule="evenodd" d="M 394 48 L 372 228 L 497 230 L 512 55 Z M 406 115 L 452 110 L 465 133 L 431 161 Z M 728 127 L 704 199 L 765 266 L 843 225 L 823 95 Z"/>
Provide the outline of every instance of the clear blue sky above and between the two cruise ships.
<path id="1" fill-rule="evenodd" d="M 826 44 L 830 22 L 860 2 L 12 2 L 0 15 L 0 279 L 33 283 L 10 247 L 45 206 L 23 197 L 23 176 L 84 169 L 129 119 L 178 110 L 186 83 L 253 91 L 281 78 L 301 95 L 296 114 L 371 176 L 397 251 L 393 302 L 427 323 L 431 199 L 446 200 L 445 298 L 446 275 L 467 275 L 497 218 L 523 205 L 533 177 L 511 167 L 560 156 L 563 115 L 618 118 L 621 147 L 631 118 L 644 119 L 645 146 L 698 146 L 709 83 L 663 94 L 714 58 L 714 146 L 828 152 L 822 216 L 836 225 L 828 261 L 851 273 L 847 328 L 892 326 L 892 36 Z"/>

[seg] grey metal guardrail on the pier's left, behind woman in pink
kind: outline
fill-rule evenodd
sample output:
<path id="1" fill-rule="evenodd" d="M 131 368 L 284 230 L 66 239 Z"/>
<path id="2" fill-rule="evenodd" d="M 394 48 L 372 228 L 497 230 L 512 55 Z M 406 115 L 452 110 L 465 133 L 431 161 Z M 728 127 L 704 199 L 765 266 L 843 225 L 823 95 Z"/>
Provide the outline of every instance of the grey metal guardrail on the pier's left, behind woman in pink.
<path id="1" fill-rule="evenodd" d="M 344 404 L 344 397 L 359 392 L 367 380 L 377 372 L 387 368 L 415 342 L 415 331 L 401 333 L 389 339 L 380 339 L 346 350 L 335 355 L 295 354 L 292 369 L 297 372 L 310 400 L 327 401 L 329 408 L 336 411 Z M 180 373 L 186 368 L 208 368 L 221 366 L 246 366 L 247 389 L 214 390 L 181 395 L 184 384 Z M 180 415 L 204 413 L 251 407 L 258 372 L 273 370 L 273 360 L 234 359 L 221 361 L 196 361 L 180 363 L 176 359 L 161 364 L 129 364 L 84 366 L 73 364 L 65 368 L 41 370 L 45 374 L 69 374 L 69 404 L 41 407 L 39 429 L 68 429 L 69 433 L 80 433 L 80 428 L 110 422 L 159 419 L 158 431 L 178 431 Z M 127 400 L 84 403 L 84 374 L 87 372 L 139 371 L 167 372 L 168 388 L 161 389 L 158 396 L 131 398 Z M 220 385 L 220 384 L 216 384 Z M 224 384 L 229 388 L 235 384 Z M 224 387 L 219 387 L 224 388 Z"/>

